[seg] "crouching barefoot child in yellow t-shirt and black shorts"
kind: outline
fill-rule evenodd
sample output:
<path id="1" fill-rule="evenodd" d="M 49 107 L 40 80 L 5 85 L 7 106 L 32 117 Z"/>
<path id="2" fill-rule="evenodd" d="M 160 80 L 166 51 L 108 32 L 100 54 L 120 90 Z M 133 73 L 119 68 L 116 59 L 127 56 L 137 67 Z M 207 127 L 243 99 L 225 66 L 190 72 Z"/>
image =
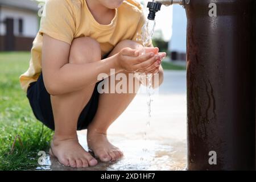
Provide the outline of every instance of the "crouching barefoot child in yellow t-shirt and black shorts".
<path id="1" fill-rule="evenodd" d="M 77 139 L 77 130 L 88 129 L 88 147 L 97 158 L 121 158 L 106 131 L 135 93 L 99 94 L 97 76 L 110 76 L 113 68 L 126 75 L 159 73 L 162 83 L 160 61 L 166 54 L 150 42 L 141 55 L 136 42 L 145 21 L 141 6 L 134 0 L 48 0 L 44 11 L 20 83 L 35 117 L 55 131 L 50 155 L 64 166 L 95 166 L 97 160 Z"/>

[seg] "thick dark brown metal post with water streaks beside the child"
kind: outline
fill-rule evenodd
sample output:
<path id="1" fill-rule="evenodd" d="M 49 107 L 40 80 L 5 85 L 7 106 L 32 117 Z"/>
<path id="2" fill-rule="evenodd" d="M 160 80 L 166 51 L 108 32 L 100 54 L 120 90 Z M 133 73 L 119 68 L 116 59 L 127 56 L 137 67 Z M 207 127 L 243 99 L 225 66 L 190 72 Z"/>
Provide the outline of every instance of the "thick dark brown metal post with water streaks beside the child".
<path id="1" fill-rule="evenodd" d="M 255 169 L 253 3 L 186 5 L 188 170 Z"/>

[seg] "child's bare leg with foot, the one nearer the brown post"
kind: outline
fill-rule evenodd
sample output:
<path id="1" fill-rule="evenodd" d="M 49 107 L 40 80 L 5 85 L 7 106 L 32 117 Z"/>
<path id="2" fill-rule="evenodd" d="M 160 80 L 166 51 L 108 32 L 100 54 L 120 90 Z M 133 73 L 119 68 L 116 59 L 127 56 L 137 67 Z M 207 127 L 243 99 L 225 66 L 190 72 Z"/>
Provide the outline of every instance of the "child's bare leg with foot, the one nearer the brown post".
<path id="1" fill-rule="evenodd" d="M 142 48 L 141 44 L 135 43 L 131 40 L 125 40 L 120 42 L 109 56 L 118 53 L 122 48 L 125 47 L 130 47 L 133 49 Z M 124 73 L 126 75 L 128 74 L 126 72 Z M 135 79 L 137 78 L 134 78 L 133 82 L 135 82 Z M 117 84 L 117 82 L 115 82 L 115 84 Z M 127 88 L 128 85 L 129 83 L 127 83 Z M 136 88 L 135 85 L 134 88 Z M 123 111 L 125 111 L 126 107 L 134 99 L 138 89 L 135 91 L 136 92 L 134 93 L 103 93 L 100 95 L 97 113 L 93 119 L 93 122 L 88 127 L 87 140 L 89 148 L 98 158 L 100 158 L 100 160 L 104 162 L 117 160 L 123 155 L 119 148 L 113 146 L 109 142 L 106 134 L 109 126 L 115 121 L 115 119 L 119 117 L 119 115 L 123 113 Z"/>

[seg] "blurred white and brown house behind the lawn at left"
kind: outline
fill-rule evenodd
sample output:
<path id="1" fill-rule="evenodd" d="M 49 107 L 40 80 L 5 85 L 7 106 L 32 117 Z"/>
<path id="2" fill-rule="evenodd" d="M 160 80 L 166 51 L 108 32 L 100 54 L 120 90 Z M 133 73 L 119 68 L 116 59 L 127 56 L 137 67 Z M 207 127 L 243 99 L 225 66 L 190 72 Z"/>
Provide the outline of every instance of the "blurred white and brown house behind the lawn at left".
<path id="1" fill-rule="evenodd" d="M 0 0 L 0 51 L 28 51 L 38 32 L 38 3 Z"/>

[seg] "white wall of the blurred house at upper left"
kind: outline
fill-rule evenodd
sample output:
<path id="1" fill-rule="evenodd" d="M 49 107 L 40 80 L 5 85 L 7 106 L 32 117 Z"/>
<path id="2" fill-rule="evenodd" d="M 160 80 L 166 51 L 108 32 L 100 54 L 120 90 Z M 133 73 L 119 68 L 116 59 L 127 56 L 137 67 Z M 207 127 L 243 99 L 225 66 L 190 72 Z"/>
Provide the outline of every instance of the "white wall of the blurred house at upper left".
<path id="1" fill-rule="evenodd" d="M 18 35 L 18 19 L 23 19 L 23 34 L 26 37 L 35 37 L 38 32 L 38 16 L 31 11 L 1 7 L 0 21 L 14 18 L 14 34 Z M 0 23 L 0 35 L 6 34 L 5 24 Z"/>

